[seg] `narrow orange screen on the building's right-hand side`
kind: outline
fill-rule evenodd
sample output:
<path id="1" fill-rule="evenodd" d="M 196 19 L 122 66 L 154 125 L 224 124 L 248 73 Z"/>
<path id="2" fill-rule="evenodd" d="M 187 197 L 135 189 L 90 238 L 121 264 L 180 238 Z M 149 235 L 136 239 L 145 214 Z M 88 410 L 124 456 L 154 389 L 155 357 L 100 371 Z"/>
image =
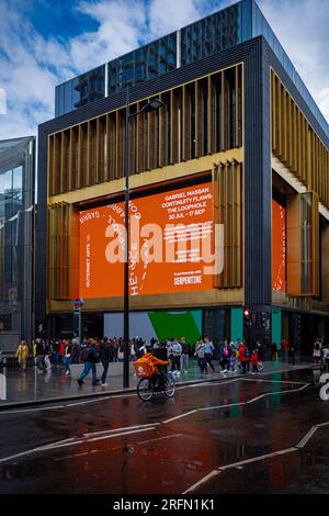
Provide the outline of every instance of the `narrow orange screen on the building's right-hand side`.
<path id="1" fill-rule="evenodd" d="M 286 210 L 272 200 L 272 289 L 286 292 Z"/>

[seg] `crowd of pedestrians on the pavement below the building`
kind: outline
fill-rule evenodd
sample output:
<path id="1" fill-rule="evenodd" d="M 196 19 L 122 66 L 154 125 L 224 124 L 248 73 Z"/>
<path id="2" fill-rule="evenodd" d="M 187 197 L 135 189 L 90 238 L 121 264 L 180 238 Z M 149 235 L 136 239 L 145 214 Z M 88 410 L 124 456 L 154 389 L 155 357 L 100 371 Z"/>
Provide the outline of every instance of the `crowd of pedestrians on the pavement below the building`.
<path id="1" fill-rule="evenodd" d="M 198 367 L 201 373 L 207 374 L 219 366 L 223 374 L 259 373 L 263 368 L 265 347 L 260 343 L 246 343 L 242 339 L 230 340 L 219 338 L 214 341 L 206 335 L 196 343 L 189 343 L 184 337 L 168 337 L 162 341 L 151 338 L 145 341 L 139 337 L 133 338 L 128 344 L 128 359 L 135 361 L 145 352 L 160 352 L 162 359 L 170 360 L 173 375 L 188 373 L 191 367 Z M 163 355 L 164 352 L 164 355 Z M 283 360 L 295 361 L 295 349 L 286 339 L 281 341 L 280 349 L 275 343 L 271 346 L 271 358 L 277 360 L 279 354 Z M 159 355 L 159 356 L 160 356 Z M 84 378 L 91 372 L 92 383 L 106 385 L 106 377 L 111 362 L 124 361 L 123 338 L 84 338 L 80 344 L 78 339 L 36 339 L 29 346 L 21 340 L 15 357 L 23 371 L 27 364 L 33 363 L 37 371 L 50 371 L 52 368 L 63 367 L 66 374 L 71 375 L 71 366 L 83 363 L 83 370 L 78 379 L 83 385 Z M 320 363 L 329 372 L 329 346 L 324 338 L 316 339 L 313 351 L 314 361 Z M 97 378 L 97 363 L 101 362 L 103 371 Z"/>

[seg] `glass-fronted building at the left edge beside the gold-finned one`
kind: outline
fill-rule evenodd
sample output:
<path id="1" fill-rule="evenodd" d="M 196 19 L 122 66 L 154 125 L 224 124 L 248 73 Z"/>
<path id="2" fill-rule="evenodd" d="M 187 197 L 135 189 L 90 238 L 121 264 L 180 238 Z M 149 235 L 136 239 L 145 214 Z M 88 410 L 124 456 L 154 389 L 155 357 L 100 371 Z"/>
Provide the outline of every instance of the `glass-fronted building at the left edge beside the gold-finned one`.
<path id="1" fill-rule="evenodd" d="M 0 142 L 0 347 L 34 335 L 35 137 Z"/>

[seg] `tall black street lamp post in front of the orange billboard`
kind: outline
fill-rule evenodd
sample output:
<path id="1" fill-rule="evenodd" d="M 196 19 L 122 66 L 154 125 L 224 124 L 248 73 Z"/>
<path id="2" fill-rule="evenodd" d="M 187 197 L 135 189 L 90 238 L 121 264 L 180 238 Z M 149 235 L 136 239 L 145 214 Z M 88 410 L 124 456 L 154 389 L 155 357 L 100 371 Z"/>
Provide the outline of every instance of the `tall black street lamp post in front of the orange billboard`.
<path id="1" fill-rule="evenodd" d="M 154 99 L 143 106 L 140 111 L 131 113 L 129 88 L 126 97 L 126 126 L 125 126 L 125 262 L 124 262 L 124 371 L 123 386 L 129 386 L 129 123 L 139 114 L 157 111 L 164 103 Z"/>

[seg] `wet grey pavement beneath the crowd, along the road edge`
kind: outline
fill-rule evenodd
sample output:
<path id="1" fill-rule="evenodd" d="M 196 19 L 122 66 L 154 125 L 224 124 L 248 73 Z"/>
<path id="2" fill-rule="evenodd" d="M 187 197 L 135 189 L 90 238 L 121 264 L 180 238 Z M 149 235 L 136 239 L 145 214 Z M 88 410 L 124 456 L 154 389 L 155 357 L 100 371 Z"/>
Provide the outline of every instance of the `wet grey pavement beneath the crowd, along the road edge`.
<path id="1" fill-rule="evenodd" d="M 107 385 L 92 385 L 91 379 L 86 379 L 86 384 L 79 386 L 77 381 L 65 374 L 64 368 L 53 368 L 47 372 L 38 372 L 35 367 L 27 369 L 23 372 L 18 369 L 7 369 L 5 371 L 5 400 L 0 400 L 0 411 L 3 408 L 29 406 L 37 404 L 46 404 L 54 402 L 61 402 L 68 400 L 84 400 L 93 399 L 99 396 L 109 396 L 114 394 L 122 394 L 124 392 L 136 391 L 138 378 L 136 378 L 131 371 L 129 374 L 129 388 L 123 389 L 122 375 L 111 374 L 111 369 L 117 364 L 110 364 L 107 373 Z M 177 378 L 177 384 L 194 384 L 203 383 L 204 381 L 220 381 L 228 378 L 239 378 L 241 372 L 223 373 L 218 362 L 214 361 L 215 372 L 208 371 L 207 374 L 201 373 L 196 364 L 196 361 L 191 359 L 190 368 L 188 373 L 181 373 Z M 296 358 L 296 363 L 292 364 L 281 360 L 277 361 L 265 361 L 262 371 L 259 373 L 260 377 L 275 372 L 285 372 L 290 370 L 298 370 L 309 368 L 309 360 L 306 358 Z M 240 371 L 240 370 L 239 370 Z M 91 375 L 91 373 L 90 373 Z M 251 374 L 250 374 L 251 375 Z"/>

